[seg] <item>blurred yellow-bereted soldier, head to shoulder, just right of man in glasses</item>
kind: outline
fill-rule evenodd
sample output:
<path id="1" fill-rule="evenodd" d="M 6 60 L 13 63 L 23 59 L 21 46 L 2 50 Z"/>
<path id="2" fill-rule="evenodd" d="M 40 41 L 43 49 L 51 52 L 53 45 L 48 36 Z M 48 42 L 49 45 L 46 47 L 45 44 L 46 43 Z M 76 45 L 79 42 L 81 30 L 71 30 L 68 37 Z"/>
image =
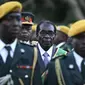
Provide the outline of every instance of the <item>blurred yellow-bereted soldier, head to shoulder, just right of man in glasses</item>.
<path id="1" fill-rule="evenodd" d="M 54 44 L 56 47 L 60 47 L 67 52 L 72 50 L 71 38 L 68 36 L 69 27 L 65 25 L 56 26 L 57 32 L 54 39 Z"/>

